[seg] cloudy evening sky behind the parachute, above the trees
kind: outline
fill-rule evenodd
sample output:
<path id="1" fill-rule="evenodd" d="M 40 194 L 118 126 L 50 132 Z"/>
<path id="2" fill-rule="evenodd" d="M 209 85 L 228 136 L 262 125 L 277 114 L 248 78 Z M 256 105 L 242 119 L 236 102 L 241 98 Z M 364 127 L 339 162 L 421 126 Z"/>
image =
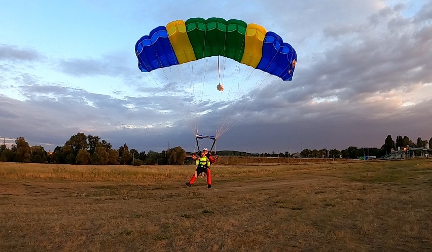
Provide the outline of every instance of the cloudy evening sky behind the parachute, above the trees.
<path id="1" fill-rule="evenodd" d="M 1 3 L 2 142 L 52 151 L 84 132 L 115 149 L 194 151 L 198 129 L 219 132 L 216 150 L 284 153 L 432 137 L 430 0 Z M 293 80 L 221 60 L 220 93 L 214 58 L 141 73 L 137 40 L 192 17 L 276 32 L 297 51 Z"/>

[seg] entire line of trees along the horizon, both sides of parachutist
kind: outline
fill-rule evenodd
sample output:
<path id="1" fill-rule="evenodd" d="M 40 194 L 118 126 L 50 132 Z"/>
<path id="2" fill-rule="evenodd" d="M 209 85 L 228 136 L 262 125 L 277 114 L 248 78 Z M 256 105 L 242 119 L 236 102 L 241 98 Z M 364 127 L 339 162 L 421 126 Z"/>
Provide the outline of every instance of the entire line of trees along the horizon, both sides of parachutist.
<path id="1" fill-rule="evenodd" d="M 384 145 L 378 148 L 362 147 L 357 148 L 350 146 L 341 151 L 337 149 L 321 149 L 309 150 L 303 149 L 300 153 L 301 157 L 309 158 L 352 158 L 357 159 L 364 156 L 382 157 L 392 150 L 397 151 L 398 148 L 428 148 L 432 149 L 432 137 L 429 140 L 417 138 L 417 142 L 413 142 L 408 136 L 397 136 L 395 141 L 391 135 L 387 135 L 384 140 Z M 222 151 L 219 155 L 232 155 L 232 151 Z M 240 152 L 241 155 L 241 152 Z M 262 155 L 263 157 L 293 157 L 292 153 L 285 152 L 276 154 L 275 152 L 268 154 L 250 154 L 246 155 Z M 418 155 L 418 154 L 416 154 Z M 11 149 L 6 145 L 0 146 L 0 161 L 2 162 L 32 162 L 32 163 L 50 163 L 50 164 L 78 164 L 78 165 L 155 165 L 155 164 L 184 164 L 187 153 L 182 147 L 175 147 L 162 151 L 138 152 L 135 149 L 129 150 L 126 143 L 117 150 L 112 148 L 111 143 L 101 139 L 99 136 L 85 135 L 77 133 L 67 140 L 63 146 L 57 146 L 54 152 L 48 153 L 42 146 L 29 146 L 24 137 L 15 139 L 15 144 Z"/>

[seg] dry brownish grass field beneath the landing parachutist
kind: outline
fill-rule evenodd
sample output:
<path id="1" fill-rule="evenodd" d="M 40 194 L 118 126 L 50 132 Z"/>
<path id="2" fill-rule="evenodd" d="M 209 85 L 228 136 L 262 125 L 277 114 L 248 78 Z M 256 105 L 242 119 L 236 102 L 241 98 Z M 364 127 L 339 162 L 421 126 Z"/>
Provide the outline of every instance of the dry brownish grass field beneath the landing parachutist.
<path id="1" fill-rule="evenodd" d="M 0 251 L 432 251 L 432 159 L 0 163 Z"/>

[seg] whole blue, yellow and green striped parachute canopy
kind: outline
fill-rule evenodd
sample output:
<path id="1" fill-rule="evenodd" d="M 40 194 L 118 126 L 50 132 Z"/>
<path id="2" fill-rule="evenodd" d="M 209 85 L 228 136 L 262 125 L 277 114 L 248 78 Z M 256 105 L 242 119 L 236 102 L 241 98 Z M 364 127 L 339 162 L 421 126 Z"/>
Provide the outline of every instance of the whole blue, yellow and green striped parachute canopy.
<path id="1" fill-rule="evenodd" d="M 291 81 L 296 67 L 294 48 L 257 24 L 223 18 L 176 20 L 153 29 L 135 45 L 143 72 L 211 56 L 231 58 Z"/>

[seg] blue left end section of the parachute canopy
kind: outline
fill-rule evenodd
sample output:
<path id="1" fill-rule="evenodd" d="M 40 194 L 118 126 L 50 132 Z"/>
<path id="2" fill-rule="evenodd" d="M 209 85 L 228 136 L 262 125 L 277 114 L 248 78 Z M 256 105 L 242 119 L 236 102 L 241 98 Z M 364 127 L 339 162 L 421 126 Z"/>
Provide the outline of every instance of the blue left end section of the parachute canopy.
<path id="1" fill-rule="evenodd" d="M 178 64 L 165 26 L 156 27 L 149 35 L 139 39 L 135 45 L 135 54 L 138 67 L 144 72 Z"/>

